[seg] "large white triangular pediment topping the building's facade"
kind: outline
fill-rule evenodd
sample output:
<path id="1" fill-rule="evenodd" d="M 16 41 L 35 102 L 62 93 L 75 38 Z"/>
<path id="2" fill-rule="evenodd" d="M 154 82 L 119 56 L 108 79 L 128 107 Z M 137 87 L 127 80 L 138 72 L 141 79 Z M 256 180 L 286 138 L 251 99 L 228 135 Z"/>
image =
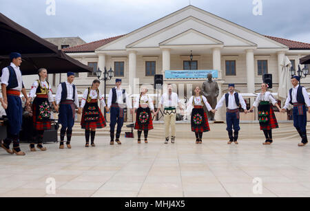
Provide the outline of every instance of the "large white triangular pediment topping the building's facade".
<path id="1" fill-rule="evenodd" d="M 191 23 L 193 23 L 194 25 L 190 25 Z M 173 32 L 172 26 L 175 27 L 174 30 L 176 30 L 177 32 Z M 262 36 L 257 32 L 247 29 L 246 27 L 242 27 L 236 23 L 227 21 L 226 19 L 211 14 L 205 10 L 196 8 L 193 5 L 189 5 L 185 8 L 182 8 L 181 10 L 178 10 L 172 14 L 163 17 L 162 19 L 158 19 L 157 21 L 149 23 L 148 25 L 145 25 L 138 30 L 134 30 L 133 32 L 130 32 L 129 34 L 126 34 L 125 36 L 118 38 L 115 41 L 107 43 L 106 45 L 103 45 L 96 50 L 125 50 L 128 47 L 134 46 L 158 47 L 162 45 L 164 41 L 167 41 L 170 38 L 173 39 L 175 36 L 178 36 L 180 32 L 186 32 L 187 30 L 191 29 L 205 34 L 205 36 L 216 38 L 218 41 L 223 42 L 224 46 L 249 45 L 257 46 L 257 48 L 267 49 L 288 48 L 282 43 L 273 41 L 271 38 Z M 215 32 L 214 30 L 217 32 Z M 169 32 L 163 33 L 163 31 Z M 158 32 L 163 35 L 161 38 L 154 37 L 154 39 L 149 39 L 153 36 L 156 36 Z M 172 34 L 169 34 L 170 32 Z M 169 36 L 165 36 L 165 34 L 169 34 Z M 189 36 L 189 34 L 184 36 Z M 192 34 L 192 37 L 196 36 L 196 33 Z M 142 44 L 141 41 L 145 41 L 145 38 L 149 39 L 150 43 Z M 189 38 L 191 38 L 191 36 L 189 36 Z M 181 39 L 182 36 L 179 39 L 174 39 L 172 43 L 177 43 L 177 41 L 180 41 Z M 202 39 L 201 36 L 199 37 L 199 39 Z M 204 41 L 207 41 L 207 39 L 205 39 Z M 169 43 L 169 45 L 172 45 L 172 43 Z M 165 45 L 167 45 L 167 43 L 165 43 Z"/>

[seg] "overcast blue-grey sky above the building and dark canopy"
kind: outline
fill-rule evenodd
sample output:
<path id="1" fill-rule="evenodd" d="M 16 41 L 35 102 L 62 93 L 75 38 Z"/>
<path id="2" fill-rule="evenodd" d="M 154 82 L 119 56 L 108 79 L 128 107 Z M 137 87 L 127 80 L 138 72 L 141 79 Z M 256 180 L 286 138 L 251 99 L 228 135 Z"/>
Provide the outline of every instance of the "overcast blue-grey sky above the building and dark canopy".
<path id="1" fill-rule="evenodd" d="M 0 12 L 41 37 L 80 36 L 86 42 L 127 34 L 189 5 L 189 0 L 0 0 Z M 191 4 L 260 34 L 310 43 L 309 0 L 191 0 Z"/>

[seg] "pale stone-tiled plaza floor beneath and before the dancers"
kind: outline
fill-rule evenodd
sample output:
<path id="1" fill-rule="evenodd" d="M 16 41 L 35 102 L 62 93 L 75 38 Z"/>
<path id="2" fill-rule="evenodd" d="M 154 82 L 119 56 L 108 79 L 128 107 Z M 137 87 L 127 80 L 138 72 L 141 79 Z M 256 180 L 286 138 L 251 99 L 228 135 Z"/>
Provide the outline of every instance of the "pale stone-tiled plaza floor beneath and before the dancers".
<path id="1" fill-rule="evenodd" d="M 258 124 L 241 124 L 238 146 L 227 145 L 225 124 L 210 124 L 199 145 L 189 124 L 177 124 L 176 144 L 163 144 L 163 124 L 154 126 L 149 144 L 96 137 L 85 148 L 73 137 L 72 149 L 45 144 L 48 151 L 33 153 L 21 144 L 25 157 L 1 150 L 0 197 L 310 197 L 310 146 L 298 148 L 292 124 L 280 124 L 271 146 L 262 146 Z"/>

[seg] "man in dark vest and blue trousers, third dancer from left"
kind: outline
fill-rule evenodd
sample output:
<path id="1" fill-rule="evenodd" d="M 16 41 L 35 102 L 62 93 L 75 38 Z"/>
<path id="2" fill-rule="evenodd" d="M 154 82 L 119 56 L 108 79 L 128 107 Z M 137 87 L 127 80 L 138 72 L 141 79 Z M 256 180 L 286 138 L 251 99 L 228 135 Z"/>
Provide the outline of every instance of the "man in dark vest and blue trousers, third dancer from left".
<path id="1" fill-rule="evenodd" d="M 65 132 L 67 131 L 67 147 L 71 148 L 72 127 L 74 126 L 75 107 L 79 109 L 78 113 L 81 114 L 79 105 L 78 93 L 74 81 L 74 73 L 68 72 L 67 81 L 62 82 L 57 89 L 56 111 L 59 111 L 59 124 L 61 124 L 61 142 L 59 148 L 64 148 L 63 141 L 65 139 Z M 60 104 L 60 107 L 59 107 Z"/>

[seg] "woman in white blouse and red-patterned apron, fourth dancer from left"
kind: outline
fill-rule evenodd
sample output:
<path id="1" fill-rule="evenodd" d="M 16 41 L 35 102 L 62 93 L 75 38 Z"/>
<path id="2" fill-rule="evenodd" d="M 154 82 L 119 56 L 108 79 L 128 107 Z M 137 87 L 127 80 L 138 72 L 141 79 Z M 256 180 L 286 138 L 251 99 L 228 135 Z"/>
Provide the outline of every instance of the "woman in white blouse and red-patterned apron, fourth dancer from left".
<path id="1" fill-rule="evenodd" d="M 90 146 L 90 137 L 91 145 L 96 146 L 94 144 L 96 129 L 102 129 L 107 126 L 105 118 L 98 106 L 98 101 L 100 101 L 102 106 L 105 107 L 105 111 L 108 111 L 101 91 L 99 91 L 99 85 L 100 80 L 94 80 L 92 87 L 85 89 L 81 101 L 81 108 L 83 109 L 81 126 L 82 129 L 85 129 L 85 147 Z"/>

